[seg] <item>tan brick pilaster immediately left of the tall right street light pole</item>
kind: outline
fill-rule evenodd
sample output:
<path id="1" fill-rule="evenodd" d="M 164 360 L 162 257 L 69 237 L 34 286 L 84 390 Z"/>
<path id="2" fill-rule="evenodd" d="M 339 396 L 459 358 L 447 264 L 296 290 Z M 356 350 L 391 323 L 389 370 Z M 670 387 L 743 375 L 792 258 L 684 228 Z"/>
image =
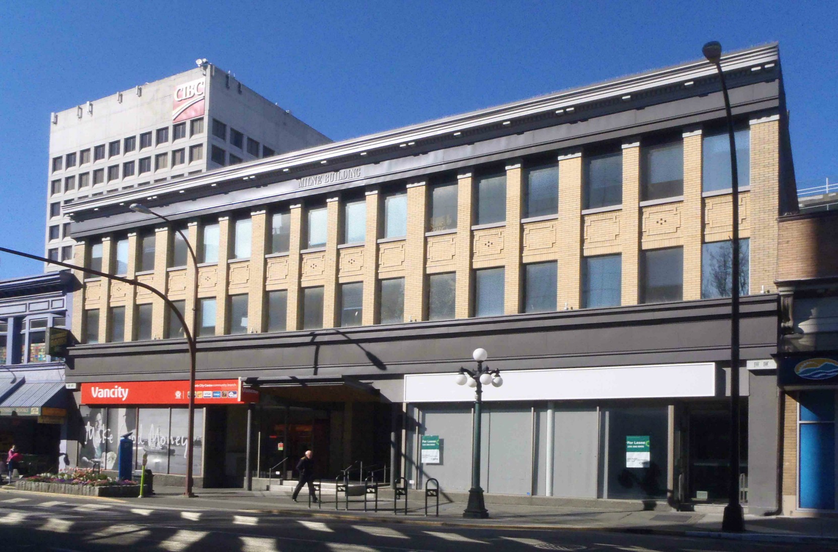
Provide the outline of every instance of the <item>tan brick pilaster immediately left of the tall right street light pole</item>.
<path id="1" fill-rule="evenodd" d="M 684 204 L 681 224 L 684 233 L 684 300 L 701 299 L 701 128 L 684 131 Z"/>

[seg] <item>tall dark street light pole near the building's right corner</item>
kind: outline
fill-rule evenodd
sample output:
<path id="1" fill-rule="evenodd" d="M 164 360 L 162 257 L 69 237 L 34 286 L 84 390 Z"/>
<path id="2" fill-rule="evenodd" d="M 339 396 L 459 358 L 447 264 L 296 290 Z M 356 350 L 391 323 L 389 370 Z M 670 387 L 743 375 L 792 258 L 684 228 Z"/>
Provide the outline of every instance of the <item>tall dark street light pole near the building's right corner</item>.
<path id="1" fill-rule="evenodd" d="M 736 163 L 736 138 L 733 134 L 733 116 L 731 101 L 727 95 L 727 83 L 722 71 L 722 44 L 708 42 L 701 49 L 707 61 L 716 65 L 719 80 L 722 81 L 722 95 L 725 99 L 727 115 L 727 137 L 731 150 L 731 186 L 732 186 L 732 255 L 731 262 L 731 447 L 730 473 L 728 473 L 728 498 L 722 518 L 722 530 L 743 531 L 745 519 L 742 505 L 739 503 L 739 175 Z"/>

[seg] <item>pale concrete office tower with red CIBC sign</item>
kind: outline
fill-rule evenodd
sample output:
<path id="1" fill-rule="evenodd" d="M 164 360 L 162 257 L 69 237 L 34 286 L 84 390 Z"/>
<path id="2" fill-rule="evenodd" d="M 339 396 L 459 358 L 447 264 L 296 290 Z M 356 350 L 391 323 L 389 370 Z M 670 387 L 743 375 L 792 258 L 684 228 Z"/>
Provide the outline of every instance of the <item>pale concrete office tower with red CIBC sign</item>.
<path id="1" fill-rule="evenodd" d="M 205 60 L 50 122 L 44 256 L 56 261 L 73 258 L 62 207 L 75 201 L 329 142 Z"/>

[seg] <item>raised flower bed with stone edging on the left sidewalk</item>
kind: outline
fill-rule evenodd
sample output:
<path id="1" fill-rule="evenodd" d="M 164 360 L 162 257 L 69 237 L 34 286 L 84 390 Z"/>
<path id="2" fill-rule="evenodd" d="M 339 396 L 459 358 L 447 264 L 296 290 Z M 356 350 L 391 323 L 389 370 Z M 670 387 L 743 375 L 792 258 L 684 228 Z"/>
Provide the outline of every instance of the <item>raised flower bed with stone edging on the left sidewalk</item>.
<path id="1" fill-rule="evenodd" d="M 89 469 L 74 468 L 59 473 L 40 473 L 15 482 L 20 491 L 35 493 L 76 494 L 90 497 L 124 497 L 140 495 L 140 486 L 133 481 L 120 481 Z"/>

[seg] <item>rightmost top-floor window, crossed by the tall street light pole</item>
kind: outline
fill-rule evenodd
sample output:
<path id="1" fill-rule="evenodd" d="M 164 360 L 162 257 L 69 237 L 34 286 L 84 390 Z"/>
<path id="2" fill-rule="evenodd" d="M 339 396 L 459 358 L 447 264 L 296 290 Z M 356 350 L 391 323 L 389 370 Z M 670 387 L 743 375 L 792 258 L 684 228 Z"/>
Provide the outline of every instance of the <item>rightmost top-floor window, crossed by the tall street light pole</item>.
<path id="1" fill-rule="evenodd" d="M 736 144 L 739 186 L 751 183 L 751 132 L 743 129 L 733 133 Z M 701 184 L 705 192 L 732 187 L 730 138 L 727 132 L 704 137 L 701 141 Z"/>

